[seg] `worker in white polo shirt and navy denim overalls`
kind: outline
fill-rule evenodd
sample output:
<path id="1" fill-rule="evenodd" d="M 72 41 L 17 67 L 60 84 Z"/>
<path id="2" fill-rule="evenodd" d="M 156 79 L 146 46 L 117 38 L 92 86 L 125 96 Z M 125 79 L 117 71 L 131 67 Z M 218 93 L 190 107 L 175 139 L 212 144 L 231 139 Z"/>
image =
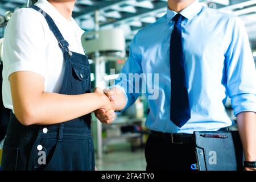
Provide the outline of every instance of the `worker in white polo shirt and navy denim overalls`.
<path id="1" fill-rule="evenodd" d="M 90 113 L 112 110 L 90 93 L 84 31 L 74 1 L 39 0 L 15 11 L 3 44 L 3 104 L 13 110 L 3 170 L 94 170 Z"/>

